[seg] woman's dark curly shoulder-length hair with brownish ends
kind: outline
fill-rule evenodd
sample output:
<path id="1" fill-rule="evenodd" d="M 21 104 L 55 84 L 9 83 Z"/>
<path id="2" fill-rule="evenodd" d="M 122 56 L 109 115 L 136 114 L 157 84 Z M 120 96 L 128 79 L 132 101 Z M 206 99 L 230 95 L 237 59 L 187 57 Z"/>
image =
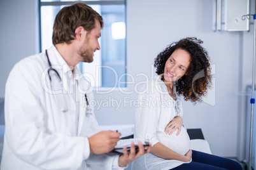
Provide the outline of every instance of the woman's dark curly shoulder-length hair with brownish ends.
<path id="1" fill-rule="evenodd" d="M 173 42 L 155 58 L 154 67 L 158 75 L 164 73 L 166 61 L 176 49 L 183 49 L 190 54 L 191 62 L 183 77 L 175 82 L 176 92 L 183 95 L 186 101 L 203 101 L 207 89 L 211 88 L 211 67 L 208 52 L 201 44 L 203 41 L 196 37 L 187 37 L 178 42 Z M 164 78 L 162 77 L 162 80 Z"/>

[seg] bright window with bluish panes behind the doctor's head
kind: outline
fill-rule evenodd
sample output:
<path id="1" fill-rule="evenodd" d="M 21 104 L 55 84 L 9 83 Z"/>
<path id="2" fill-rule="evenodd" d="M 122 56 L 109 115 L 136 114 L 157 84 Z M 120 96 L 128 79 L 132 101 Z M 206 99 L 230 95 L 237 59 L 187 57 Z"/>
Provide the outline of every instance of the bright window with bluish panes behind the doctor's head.
<path id="1" fill-rule="evenodd" d="M 55 16 L 64 6 L 77 1 L 41 0 L 40 5 L 40 49 L 52 46 L 52 28 Z M 101 50 L 94 53 L 94 62 L 79 63 L 82 73 L 89 74 L 92 86 L 113 88 L 118 81 L 126 81 L 126 46 L 125 46 L 125 1 L 84 1 L 101 16 L 104 27 L 99 43 Z M 126 83 L 121 83 L 126 87 Z"/>

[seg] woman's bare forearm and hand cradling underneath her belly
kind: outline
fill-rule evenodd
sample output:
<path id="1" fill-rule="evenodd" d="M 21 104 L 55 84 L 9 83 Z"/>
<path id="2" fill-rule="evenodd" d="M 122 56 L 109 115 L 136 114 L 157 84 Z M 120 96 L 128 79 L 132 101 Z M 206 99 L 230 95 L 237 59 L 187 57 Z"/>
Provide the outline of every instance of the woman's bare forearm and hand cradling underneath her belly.
<path id="1" fill-rule="evenodd" d="M 180 160 L 182 162 L 188 162 L 192 157 L 192 150 L 188 150 L 187 154 L 185 155 L 180 155 L 171 150 L 170 148 L 162 145 L 162 143 L 160 142 L 153 145 L 150 152 L 157 157 L 161 157 L 163 159 Z"/>

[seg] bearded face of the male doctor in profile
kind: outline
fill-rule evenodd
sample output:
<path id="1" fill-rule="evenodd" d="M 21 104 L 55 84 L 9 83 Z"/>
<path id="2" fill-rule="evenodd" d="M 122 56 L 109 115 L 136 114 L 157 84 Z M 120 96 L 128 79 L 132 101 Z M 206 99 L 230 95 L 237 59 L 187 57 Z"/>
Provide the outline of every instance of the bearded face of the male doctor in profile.
<path id="1" fill-rule="evenodd" d="M 96 27 L 90 32 L 87 32 L 78 50 L 78 55 L 82 57 L 82 62 L 93 62 L 94 61 L 94 52 L 101 49 L 99 46 L 99 37 L 101 37 L 101 24 L 98 20 L 95 23 Z"/>

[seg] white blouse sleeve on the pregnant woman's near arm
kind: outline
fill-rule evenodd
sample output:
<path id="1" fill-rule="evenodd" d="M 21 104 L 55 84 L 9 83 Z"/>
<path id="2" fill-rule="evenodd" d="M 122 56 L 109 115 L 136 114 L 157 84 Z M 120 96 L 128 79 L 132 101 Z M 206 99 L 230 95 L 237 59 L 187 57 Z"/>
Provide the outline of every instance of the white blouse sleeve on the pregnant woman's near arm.
<path id="1" fill-rule="evenodd" d="M 152 89 L 152 87 L 149 87 Z M 147 91 L 138 96 L 139 106 L 136 107 L 134 138 L 150 140 L 152 146 L 159 142 L 156 137 L 157 122 L 160 114 L 160 94 Z"/>

